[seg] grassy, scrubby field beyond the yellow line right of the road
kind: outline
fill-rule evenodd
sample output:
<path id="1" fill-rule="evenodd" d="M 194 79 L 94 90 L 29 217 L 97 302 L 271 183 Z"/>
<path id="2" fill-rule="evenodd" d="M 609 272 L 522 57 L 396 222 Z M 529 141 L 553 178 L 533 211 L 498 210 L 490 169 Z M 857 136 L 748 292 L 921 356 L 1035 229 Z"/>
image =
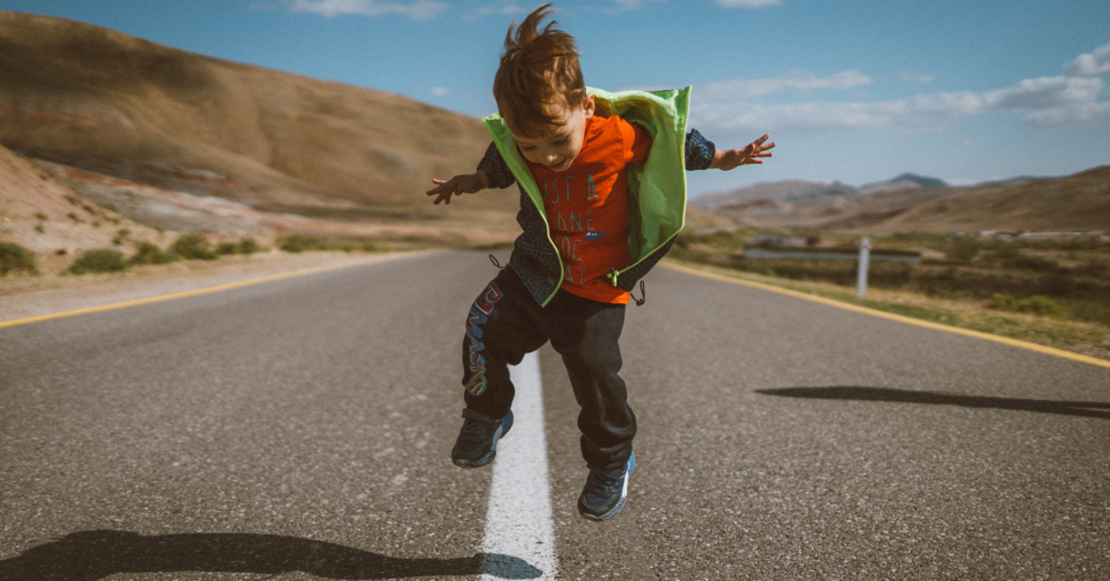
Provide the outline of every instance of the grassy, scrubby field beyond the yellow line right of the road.
<path id="1" fill-rule="evenodd" d="M 870 237 L 877 250 L 916 251 L 922 260 L 872 260 L 867 297 L 859 299 L 856 261 L 745 258 L 759 234 L 858 251 L 858 236 L 740 229 L 683 233 L 668 256 L 738 278 L 1110 359 L 1107 237 Z"/>

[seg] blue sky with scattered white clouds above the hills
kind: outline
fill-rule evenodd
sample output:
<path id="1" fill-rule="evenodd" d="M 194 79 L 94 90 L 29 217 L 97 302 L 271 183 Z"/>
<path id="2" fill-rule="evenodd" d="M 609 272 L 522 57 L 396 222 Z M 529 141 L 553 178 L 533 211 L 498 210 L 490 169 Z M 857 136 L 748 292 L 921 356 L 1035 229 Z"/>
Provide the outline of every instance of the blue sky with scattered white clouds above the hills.
<path id="1" fill-rule="evenodd" d="M 505 30 L 539 1 L 0 0 L 184 50 L 406 94 L 474 117 Z M 689 174 L 693 194 L 911 171 L 951 183 L 1110 163 L 1107 0 L 556 2 L 586 83 L 694 86 L 718 146 L 764 132 L 763 167 Z M 475 160 L 477 162 L 477 160 Z"/>

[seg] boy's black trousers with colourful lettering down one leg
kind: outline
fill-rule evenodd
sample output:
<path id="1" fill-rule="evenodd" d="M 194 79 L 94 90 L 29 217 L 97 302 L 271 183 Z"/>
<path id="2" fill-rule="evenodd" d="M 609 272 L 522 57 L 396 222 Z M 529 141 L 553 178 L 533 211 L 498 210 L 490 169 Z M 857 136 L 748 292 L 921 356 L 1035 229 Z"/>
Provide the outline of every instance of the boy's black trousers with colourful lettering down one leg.
<path id="1" fill-rule="evenodd" d="M 491 418 L 508 413 L 516 390 L 508 364 L 548 340 L 563 355 L 582 407 L 578 430 L 582 455 L 589 468 L 622 468 L 632 454 L 636 415 L 620 371 L 624 304 L 607 304 L 559 290 L 547 307 L 532 298 L 511 268 L 500 274 L 471 305 L 463 339 L 463 385 L 466 407 Z"/>

